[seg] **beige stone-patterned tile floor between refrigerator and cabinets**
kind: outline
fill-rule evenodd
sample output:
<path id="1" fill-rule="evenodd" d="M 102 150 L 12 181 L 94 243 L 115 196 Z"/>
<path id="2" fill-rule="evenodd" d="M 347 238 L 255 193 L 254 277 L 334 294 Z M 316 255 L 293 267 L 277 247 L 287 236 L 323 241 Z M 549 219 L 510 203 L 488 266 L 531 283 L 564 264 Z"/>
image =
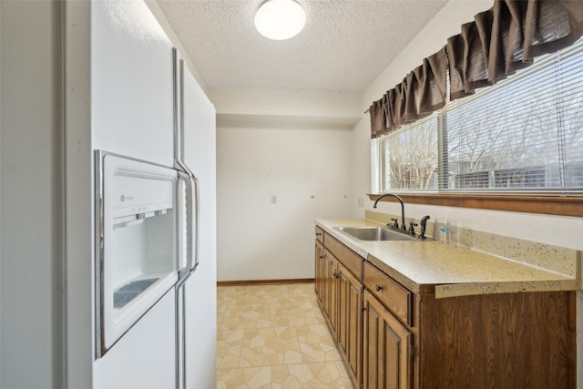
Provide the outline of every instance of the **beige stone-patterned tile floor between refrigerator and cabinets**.
<path id="1" fill-rule="evenodd" d="M 217 388 L 353 389 L 313 283 L 218 288 Z"/>

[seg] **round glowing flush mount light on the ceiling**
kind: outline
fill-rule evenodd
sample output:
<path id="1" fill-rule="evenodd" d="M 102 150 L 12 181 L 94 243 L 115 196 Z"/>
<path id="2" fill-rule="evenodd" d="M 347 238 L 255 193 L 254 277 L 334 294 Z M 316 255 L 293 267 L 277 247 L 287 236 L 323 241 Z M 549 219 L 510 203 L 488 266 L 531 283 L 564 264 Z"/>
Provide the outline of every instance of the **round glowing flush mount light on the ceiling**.
<path id="1" fill-rule="evenodd" d="M 289 39 L 302 31 L 306 13 L 293 0 L 267 0 L 255 14 L 255 28 L 273 40 Z"/>

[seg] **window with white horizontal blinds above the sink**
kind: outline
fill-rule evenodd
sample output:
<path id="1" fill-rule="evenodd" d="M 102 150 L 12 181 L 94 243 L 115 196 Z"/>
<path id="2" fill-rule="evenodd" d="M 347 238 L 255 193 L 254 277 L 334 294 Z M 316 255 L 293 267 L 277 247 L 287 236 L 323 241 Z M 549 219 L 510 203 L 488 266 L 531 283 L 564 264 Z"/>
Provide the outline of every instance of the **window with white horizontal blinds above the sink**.
<path id="1" fill-rule="evenodd" d="M 583 39 L 373 148 L 375 191 L 583 192 Z"/>

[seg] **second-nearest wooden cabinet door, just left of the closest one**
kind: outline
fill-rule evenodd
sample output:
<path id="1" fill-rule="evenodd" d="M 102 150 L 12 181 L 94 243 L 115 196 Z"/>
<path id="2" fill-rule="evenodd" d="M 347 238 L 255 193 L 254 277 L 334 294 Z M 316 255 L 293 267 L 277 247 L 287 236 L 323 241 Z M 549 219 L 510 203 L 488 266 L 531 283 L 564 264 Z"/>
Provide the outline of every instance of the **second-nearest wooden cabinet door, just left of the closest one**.
<path id="1" fill-rule="evenodd" d="M 361 382 L 363 358 L 363 284 L 338 264 L 338 343 L 355 383 Z"/>

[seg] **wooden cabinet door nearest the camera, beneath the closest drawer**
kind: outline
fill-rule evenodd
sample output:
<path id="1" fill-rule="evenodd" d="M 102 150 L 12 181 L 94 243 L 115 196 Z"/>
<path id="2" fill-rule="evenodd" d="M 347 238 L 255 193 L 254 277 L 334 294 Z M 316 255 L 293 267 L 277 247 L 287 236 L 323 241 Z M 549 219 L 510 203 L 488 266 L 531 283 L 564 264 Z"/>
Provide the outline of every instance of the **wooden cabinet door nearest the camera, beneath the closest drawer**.
<path id="1" fill-rule="evenodd" d="M 410 389 L 413 335 L 364 292 L 363 388 Z"/>

